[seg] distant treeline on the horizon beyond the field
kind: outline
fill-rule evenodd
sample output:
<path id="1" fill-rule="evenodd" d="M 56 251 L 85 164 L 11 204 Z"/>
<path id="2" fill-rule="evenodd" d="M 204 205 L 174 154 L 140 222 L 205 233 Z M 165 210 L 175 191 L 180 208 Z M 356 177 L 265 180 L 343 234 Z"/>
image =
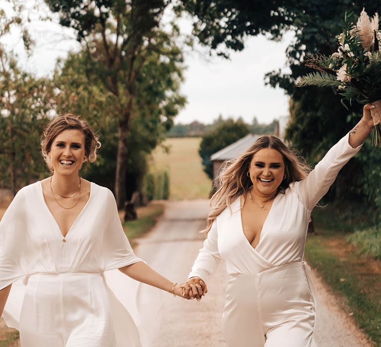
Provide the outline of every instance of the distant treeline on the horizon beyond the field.
<path id="1" fill-rule="evenodd" d="M 242 118 L 243 122 L 245 122 Z M 167 133 L 167 137 L 200 137 L 216 128 L 224 122 L 222 116 L 219 116 L 211 124 L 204 124 L 197 120 L 192 121 L 190 124 L 175 124 Z M 246 122 L 245 122 L 246 123 Z M 246 123 L 250 129 L 250 132 L 257 135 L 272 134 L 275 131 L 277 120 L 273 120 L 271 123 L 259 123 L 257 118 L 254 117 L 251 124 Z"/>

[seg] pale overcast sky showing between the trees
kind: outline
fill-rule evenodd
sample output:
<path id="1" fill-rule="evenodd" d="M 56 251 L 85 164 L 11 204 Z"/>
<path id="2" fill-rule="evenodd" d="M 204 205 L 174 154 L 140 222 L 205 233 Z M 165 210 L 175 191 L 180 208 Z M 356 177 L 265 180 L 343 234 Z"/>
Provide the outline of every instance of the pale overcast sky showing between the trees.
<path id="1" fill-rule="evenodd" d="M 4 0 L 0 0 L 0 7 L 3 6 Z M 187 25 L 182 27 L 187 30 Z M 39 76 L 51 75 L 58 57 L 78 49 L 73 33 L 58 24 L 33 21 L 30 31 L 36 40 L 30 58 L 22 53 L 18 32 L 6 39 L 6 45 L 19 52 L 25 69 Z M 63 33 L 67 40 L 63 40 Z M 221 114 L 242 116 L 247 122 L 256 116 L 260 122 L 269 123 L 287 115 L 288 97 L 281 89 L 265 86 L 263 77 L 266 72 L 285 68 L 285 50 L 292 39 L 292 33 L 282 42 L 269 41 L 263 36 L 251 37 L 242 52 L 231 52 L 230 59 L 210 58 L 200 47 L 187 52 L 188 68 L 181 91 L 188 103 L 175 122 L 189 123 L 196 119 L 210 123 Z"/>

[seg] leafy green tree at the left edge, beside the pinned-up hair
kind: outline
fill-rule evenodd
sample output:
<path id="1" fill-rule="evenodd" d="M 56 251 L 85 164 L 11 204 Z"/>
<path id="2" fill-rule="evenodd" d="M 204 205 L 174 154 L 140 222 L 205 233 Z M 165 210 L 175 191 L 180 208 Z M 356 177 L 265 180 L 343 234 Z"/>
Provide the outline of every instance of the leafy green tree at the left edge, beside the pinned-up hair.
<path id="1" fill-rule="evenodd" d="M 0 185 L 13 195 L 31 179 L 42 178 L 45 163 L 40 135 L 55 108 L 54 86 L 22 71 L 0 52 Z"/>

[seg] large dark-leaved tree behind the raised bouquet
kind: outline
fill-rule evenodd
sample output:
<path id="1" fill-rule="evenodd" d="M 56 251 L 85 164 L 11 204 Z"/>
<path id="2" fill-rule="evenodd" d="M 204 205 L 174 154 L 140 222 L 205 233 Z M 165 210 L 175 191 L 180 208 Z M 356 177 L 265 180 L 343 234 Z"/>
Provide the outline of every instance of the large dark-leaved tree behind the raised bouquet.
<path id="1" fill-rule="evenodd" d="M 266 34 L 272 40 L 279 40 L 287 30 L 295 32 L 295 40 L 286 50 L 291 72 L 271 71 L 266 74 L 265 81 L 273 87 L 283 88 L 291 97 L 287 137 L 312 165 L 358 121 L 360 105 L 354 103 L 347 111 L 340 105 L 340 97 L 334 90 L 302 89 L 297 88 L 294 82 L 309 72 L 303 65 L 306 58 L 316 53 L 331 54 L 336 50 L 335 35 L 342 31 L 345 11 L 359 14 L 365 7 L 369 14 L 380 13 L 379 3 L 370 0 L 361 3 L 328 0 L 323 4 L 318 0 L 204 0 L 183 1 L 183 4 L 193 14 L 193 33 L 201 43 L 221 55 L 228 55 L 230 49 L 244 49 L 245 40 L 250 35 Z M 258 48 L 258 54 L 266 53 Z M 351 161 L 352 168 L 344 169 L 336 184 L 336 196 L 349 197 L 357 187 L 358 192 L 366 192 L 368 198 L 375 201 L 375 192 L 381 191 L 381 183 L 364 164 L 375 157 L 381 160 L 381 153 L 378 149 L 371 152 L 362 151 L 359 160 Z M 353 166 L 357 170 L 352 170 Z M 351 188 L 344 189 L 348 186 Z"/>

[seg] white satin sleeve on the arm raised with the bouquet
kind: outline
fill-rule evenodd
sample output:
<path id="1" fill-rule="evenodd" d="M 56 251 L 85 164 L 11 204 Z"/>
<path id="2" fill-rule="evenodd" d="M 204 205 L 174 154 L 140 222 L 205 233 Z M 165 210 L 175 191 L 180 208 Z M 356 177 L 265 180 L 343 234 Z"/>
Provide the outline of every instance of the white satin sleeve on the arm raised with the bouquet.
<path id="1" fill-rule="evenodd" d="M 290 184 L 302 204 L 312 210 L 326 194 L 336 179 L 341 168 L 361 149 L 362 144 L 352 148 L 349 144 L 349 133 L 337 142 L 318 162 L 307 178 Z"/>

